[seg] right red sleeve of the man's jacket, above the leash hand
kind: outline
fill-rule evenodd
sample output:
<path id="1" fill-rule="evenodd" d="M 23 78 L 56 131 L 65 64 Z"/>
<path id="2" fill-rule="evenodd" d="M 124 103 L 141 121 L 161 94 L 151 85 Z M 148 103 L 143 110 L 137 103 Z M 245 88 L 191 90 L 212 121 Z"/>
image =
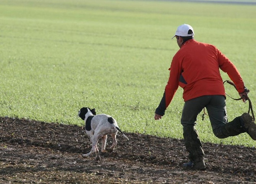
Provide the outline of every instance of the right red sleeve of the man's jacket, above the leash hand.
<path id="1" fill-rule="evenodd" d="M 228 77 L 233 81 L 235 84 L 238 93 L 243 93 L 245 91 L 245 85 L 243 83 L 243 79 L 241 78 L 240 73 L 238 72 L 235 65 L 218 49 L 218 58 L 219 58 L 219 67 L 220 69 L 228 74 Z"/>

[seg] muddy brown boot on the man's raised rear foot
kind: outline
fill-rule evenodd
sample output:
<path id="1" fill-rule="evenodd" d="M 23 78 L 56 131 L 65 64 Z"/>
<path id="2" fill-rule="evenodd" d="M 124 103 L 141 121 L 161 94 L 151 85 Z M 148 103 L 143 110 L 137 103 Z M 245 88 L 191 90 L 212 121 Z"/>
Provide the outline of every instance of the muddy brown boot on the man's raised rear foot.
<path id="1" fill-rule="evenodd" d="M 256 124 L 253 121 L 253 117 L 248 113 L 244 113 L 241 115 L 241 118 L 243 120 L 241 126 L 244 126 L 246 132 L 256 141 Z"/>

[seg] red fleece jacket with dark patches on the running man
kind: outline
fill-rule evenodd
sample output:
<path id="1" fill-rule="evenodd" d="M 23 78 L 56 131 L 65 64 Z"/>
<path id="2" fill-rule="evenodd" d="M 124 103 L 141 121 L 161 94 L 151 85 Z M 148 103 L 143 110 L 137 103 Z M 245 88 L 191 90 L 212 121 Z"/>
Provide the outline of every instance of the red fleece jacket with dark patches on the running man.
<path id="1" fill-rule="evenodd" d="M 238 93 L 245 91 L 245 85 L 235 65 L 214 45 L 197 42 L 194 39 L 185 42 L 173 56 L 169 68 L 170 77 L 156 114 L 164 114 L 178 86 L 181 86 L 184 90 L 184 101 L 204 95 L 225 96 L 219 69 L 228 74 L 235 83 Z"/>

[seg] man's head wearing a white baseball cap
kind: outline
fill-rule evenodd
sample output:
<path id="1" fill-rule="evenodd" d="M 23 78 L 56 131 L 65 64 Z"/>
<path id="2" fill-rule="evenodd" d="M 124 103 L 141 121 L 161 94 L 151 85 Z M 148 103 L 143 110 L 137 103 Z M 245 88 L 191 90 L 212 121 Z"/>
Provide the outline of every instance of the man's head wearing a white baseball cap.
<path id="1" fill-rule="evenodd" d="M 194 38 L 193 27 L 188 24 L 182 24 L 177 28 L 175 35 L 172 38 L 174 37 L 177 38 L 178 46 L 181 48 L 181 45 L 184 42 Z"/>

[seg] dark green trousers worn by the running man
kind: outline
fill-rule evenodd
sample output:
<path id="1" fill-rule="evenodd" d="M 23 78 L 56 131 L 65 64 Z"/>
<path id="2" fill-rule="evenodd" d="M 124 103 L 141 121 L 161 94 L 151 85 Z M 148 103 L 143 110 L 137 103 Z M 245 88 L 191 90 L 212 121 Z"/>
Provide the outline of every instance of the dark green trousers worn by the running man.
<path id="1" fill-rule="evenodd" d="M 207 95 L 186 101 L 183 107 L 181 124 L 186 150 L 191 160 L 204 157 L 203 146 L 194 125 L 198 114 L 206 107 L 212 126 L 212 131 L 217 138 L 227 138 L 246 132 L 241 127 L 240 116 L 231 122 L 227 119 L 225 97 L 222 95 Z"/>

